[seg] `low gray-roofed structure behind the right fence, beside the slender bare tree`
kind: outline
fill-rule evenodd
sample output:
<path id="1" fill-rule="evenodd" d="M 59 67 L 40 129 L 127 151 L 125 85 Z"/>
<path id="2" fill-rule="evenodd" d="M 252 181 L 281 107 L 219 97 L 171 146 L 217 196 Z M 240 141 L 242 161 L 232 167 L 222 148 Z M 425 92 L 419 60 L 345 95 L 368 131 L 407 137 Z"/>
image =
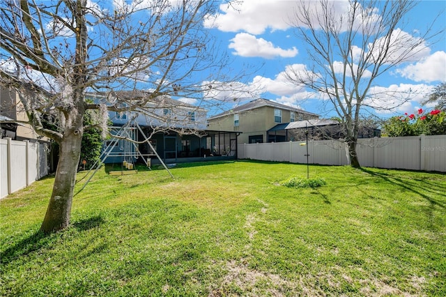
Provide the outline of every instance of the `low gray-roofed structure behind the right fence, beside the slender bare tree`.
<path id="1" fill-rule="evenodd" d="M 308 132 L 308 139 L 314 140 L 345 137 L 341 123 L 330 119 L 309 119 L 306 121 L 282 123 L 268 130 L 268 137 L 269 139 L 274 139 L 274 142 L 302 141 L 307 137 L 306 132 Z M 358 138 L 372 137 L 380 137 L 380 130 L 369 127 L 360 128 Z"/>

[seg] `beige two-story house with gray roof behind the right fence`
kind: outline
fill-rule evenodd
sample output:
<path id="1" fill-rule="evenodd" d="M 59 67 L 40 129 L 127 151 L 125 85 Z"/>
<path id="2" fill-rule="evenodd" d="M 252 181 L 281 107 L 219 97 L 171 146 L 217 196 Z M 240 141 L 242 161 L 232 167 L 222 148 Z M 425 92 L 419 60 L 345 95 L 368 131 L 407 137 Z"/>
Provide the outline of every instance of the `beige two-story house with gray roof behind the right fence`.
<path id="1" fill-rule="evenodd" d="M 318 119 L 318 114 L 259 98 L 208 119 L 208 129 L 241 132 L 240 144 L 286 141 L 268 131 L 281 123 Z"/>

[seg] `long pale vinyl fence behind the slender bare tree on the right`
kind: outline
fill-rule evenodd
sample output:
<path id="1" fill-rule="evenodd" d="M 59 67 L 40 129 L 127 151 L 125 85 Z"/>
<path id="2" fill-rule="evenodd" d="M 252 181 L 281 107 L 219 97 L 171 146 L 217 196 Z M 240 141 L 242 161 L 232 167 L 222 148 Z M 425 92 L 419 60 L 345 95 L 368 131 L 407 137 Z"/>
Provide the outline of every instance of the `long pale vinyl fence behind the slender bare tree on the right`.
<path id="1" fill-rule="evenodd" d="M 240 144 L 239 159 L 307 163 L 305 142 Z M 346 144 L 337 140 L 308 142 L 310 164 L 348 165 Z M 361 166 L 446 172 L 446 135 L 359 139 Z"/>

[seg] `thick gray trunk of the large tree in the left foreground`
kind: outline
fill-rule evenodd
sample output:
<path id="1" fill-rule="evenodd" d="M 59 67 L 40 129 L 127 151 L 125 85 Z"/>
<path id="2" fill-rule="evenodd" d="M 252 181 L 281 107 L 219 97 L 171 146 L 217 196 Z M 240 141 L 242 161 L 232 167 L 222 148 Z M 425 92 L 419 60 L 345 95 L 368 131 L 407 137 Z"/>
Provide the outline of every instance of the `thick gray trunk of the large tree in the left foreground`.
<path id="1" fill-rule="evenodd" d="M 82 127 L 82 126 L 81 126 Z M 82 130 L 70 129 L 59 146 L 59 164 L 47 213 L 40 230 L 49 233 L 70 224 L 71 202 L 81 152 Z"/>

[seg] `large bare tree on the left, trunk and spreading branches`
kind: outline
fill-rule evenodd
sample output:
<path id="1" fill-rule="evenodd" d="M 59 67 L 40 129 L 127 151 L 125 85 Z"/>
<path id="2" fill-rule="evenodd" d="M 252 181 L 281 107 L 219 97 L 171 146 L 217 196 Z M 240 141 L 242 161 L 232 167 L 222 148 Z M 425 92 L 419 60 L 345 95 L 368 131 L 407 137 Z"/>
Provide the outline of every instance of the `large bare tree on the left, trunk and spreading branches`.
<path id="1" fill-rule="evenodd" d="M 202 23 L 218 4 L 1 1 L 0 85 L 20 94 L 26 123 L 60 147 L 42 231 L 70 222 L 86 110 L 100 109 L 105 123 L 107 110 L 162 119 L 153 112 L 160 96 L 196 100 L 200 107 L 216 104 L 203 89 L 226 85 L 228 61 Z M 87 92 L 100 93 L 102 101 L 91 104 Z"/>

